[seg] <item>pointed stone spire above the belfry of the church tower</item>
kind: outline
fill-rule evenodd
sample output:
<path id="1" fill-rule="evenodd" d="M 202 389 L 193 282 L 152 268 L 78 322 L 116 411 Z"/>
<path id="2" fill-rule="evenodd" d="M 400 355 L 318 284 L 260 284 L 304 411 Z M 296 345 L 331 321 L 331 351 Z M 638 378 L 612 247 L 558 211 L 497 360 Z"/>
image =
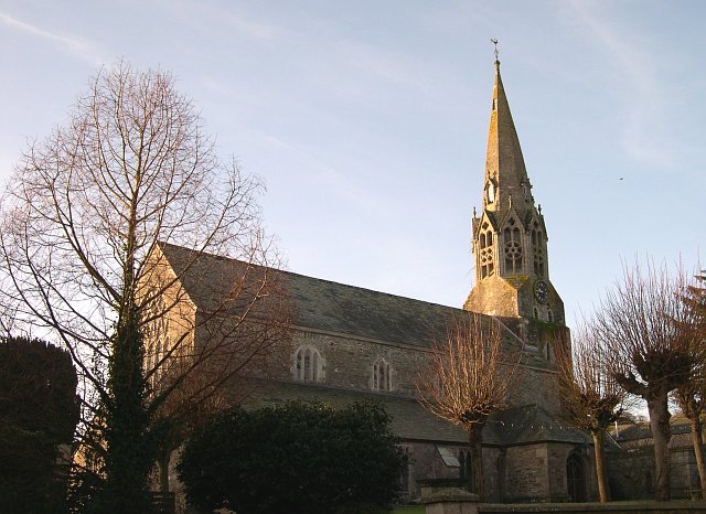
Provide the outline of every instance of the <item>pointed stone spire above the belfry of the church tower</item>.
<path id="1" fill-rule="evenodd" d="M 512 200 L 511 200 L 512 199 Z M 526 213 L 534 205 L 520 139 L 495 58 L 495 84 L 485 152 L 483 208 L 501 216 L 510 207 Z"/>

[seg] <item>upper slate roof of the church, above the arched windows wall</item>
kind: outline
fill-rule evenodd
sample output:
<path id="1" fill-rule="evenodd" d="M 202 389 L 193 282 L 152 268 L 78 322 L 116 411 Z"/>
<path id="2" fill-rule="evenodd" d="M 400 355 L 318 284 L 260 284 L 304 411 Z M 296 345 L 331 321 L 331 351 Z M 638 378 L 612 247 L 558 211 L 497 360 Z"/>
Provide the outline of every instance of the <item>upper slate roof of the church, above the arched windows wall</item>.
<path id="1" fill-rule="evenodd" d="M 214 295 L 229 290 L 244 264 L 234 259 L 194 253 L 174 245 L 160 245 L 182 285 L 197 307 L 214 304 Z M 270 270 L 271 272 L 272 270 Z M 429 346 L 442 340 L 453 319 L 468 315 L 462 309 L 398 297 L 370 289 L 307 277 L 291 271 L 275 271 L 287 283 L 301 328 L 336 332 L 389 343 Z M 197 277 L 197 278 L 196 278 Z"/>

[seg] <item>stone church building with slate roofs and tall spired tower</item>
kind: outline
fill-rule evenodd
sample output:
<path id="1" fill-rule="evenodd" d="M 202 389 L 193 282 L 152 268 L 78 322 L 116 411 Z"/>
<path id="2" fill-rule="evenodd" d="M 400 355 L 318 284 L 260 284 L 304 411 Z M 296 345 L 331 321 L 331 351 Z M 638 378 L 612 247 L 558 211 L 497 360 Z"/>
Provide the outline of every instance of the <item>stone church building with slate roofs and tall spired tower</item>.
<path id="1" fill-rule="evenodd" d="M 491 317 L 504 343 L 522 351 L 522 373 L 507 407 L 483 431 L 485 501 L 565 502 L 596 497 L 590 438 L 561 419 L 555 385 L 557 345 L 570 344 L 564 304 L 550 279 L 547 225 L 525 169 L 520 139 L 495 62 L 482 208 L 473 213 L 475 282 L 462 309 L 428 303 L 289 271 L 281 278 L 292 303 L 293 334 L 267 365 L 248 401 L 311 398 L 345 405 L 373 399 L 393 417 L 409 465 L 400 476 L 407 499 L 441 479 L 467 480 L 468 436 L 417 401 L 415 382 L 466 311 Z M 212 299 L 203 283 L 227 282 L 233 261 L 200 255 L 183 275 L 190 250 L 160 248 L 196 315 Z M 182 313 L 183 314 L 183 313 Z M 196 332 L 196 344 L 204 333 Z"/>

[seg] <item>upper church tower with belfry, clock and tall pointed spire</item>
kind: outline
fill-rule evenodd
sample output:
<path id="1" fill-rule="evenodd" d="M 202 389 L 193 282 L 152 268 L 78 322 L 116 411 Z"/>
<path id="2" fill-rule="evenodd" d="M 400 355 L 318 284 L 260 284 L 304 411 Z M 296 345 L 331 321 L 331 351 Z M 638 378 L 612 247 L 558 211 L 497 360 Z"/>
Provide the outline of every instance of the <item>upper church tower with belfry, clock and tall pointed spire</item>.
<path id="1" fill-rule="evenodd" d="M 547 231 L 510 114 L 495 56 L 480 215 L 473 212 L 475 285 L 463 308 L 483 314 L 564 324 L 564 302 L 549 280 Z"/>

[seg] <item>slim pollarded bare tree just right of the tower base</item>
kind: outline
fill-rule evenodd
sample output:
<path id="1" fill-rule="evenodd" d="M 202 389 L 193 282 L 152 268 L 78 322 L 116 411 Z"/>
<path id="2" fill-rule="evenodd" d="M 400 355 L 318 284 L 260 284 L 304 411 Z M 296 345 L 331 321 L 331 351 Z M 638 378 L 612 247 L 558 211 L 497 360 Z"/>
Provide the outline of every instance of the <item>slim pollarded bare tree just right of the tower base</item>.
<path id="1" fill-rule="evenodd" d="M 586 321 L 574 333 L 571 350 L 557 352 L 557 368 L 564 413 L 571 425 L 591 433 L 598 494 L 601 502 L 608 502 L 605 437 L 622 414 L 627 393 L 610 373 L 607 352 Z"/>

